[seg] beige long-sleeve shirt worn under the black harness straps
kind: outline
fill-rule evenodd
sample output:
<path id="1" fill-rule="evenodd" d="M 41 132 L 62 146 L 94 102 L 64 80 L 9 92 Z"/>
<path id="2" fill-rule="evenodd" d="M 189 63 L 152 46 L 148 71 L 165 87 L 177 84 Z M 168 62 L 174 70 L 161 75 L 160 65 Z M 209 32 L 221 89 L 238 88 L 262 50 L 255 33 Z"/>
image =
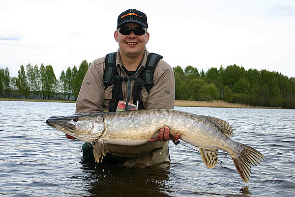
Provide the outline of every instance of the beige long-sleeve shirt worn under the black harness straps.
<path id="1" fill-rule="evenodd" d="M 148 57 L 148 51 L 145 50 L 143 59 L 141 61 L 139 69 L 131 77 L 138 77 L 140 72 L 144 69 Z M 117 71 L 122 77 L 129 77 L 122 69 L 122 62 L 117 53 Z M 77 98 L 76 113 L 96 113 L 103 112 L 109 109 L 109 102 L 112 98 L 113 86 L 109 86 L 105 90 L 103 84 L 103 74 L 105 68 L 105 57 L 95 59 L 83 80 L 79 96 Z M 143 87 L 141 92 L 141 99 L 144 102 L 146 109 L 152 108 L 167 108 L 174 109 L 175 99 L 175 84 L 174 73 L 172 68 L 164 60 L 160 59 L 156 69 L 154 70 L 154 85 L 150 89 L 149 94 Z M 131 95 L 134 81 L 131 82 Z M 123 101 L 127 100 L 127 85 L 128 83 L 122 83 Z M 132 96 L 129 103 L 132 103 Z"/>

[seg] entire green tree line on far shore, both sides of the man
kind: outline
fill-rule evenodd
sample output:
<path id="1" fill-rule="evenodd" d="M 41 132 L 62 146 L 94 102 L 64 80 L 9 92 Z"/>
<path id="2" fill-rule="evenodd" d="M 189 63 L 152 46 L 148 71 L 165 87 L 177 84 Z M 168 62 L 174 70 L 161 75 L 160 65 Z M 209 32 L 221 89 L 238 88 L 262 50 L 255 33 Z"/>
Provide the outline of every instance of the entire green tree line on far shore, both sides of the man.
<path id="1" fill-rule="evenodd" d="M 84 76 L 89 68 L 84 60 L 79 68 L 68 67 L 56 78 L 51 65 L 38 67 L 21 65 L 17 77 L 0 69 L 0 97 L 76 100 Z M 257 69 L 245 70 L 236 64 L 224 68 L 210 68 L 201 72 L 193 66 L 175 71 L 176 100 L 212 101 L 251 106 L 295 109 L 295 78 L 278 72 Z"/>

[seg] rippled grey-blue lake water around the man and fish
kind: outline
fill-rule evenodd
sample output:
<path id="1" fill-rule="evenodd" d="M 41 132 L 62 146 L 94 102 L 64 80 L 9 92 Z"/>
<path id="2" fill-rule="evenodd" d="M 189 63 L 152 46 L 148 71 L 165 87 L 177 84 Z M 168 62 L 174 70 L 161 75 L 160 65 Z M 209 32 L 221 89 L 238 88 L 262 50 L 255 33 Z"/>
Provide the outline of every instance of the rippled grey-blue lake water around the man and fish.
<path id="1" fill-rule="evenodd" d="M 199 152 L 181 145 L 188 145 L 185 142 L 169 143 L 170 169 L 83 167 L 79 161 L 84 142 L 68 140 L 45 123 L 50 116 L 75 113 L 75 104 L 0 101 L 0 195 L 295 196 L 295 110 L 176 109 L 228 121 L 233 141 L 264 154 L 265 160 L 252 167 L 249 184 L 226 152 L 219 150 L 217 166 L 208 169 Z"/>

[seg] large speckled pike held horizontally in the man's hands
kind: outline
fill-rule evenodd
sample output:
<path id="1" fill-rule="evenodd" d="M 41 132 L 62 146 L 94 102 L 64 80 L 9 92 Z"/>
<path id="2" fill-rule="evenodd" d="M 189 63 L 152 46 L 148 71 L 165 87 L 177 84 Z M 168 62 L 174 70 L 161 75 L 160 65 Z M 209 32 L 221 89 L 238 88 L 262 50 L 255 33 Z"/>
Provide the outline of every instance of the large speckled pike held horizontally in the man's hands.
<path id="1" fill-rule="evenodd" d="M 218 149 L 226 151 L 246 183 L 250 178 L 250 165 L 257 166 L 264 159 L 254 148 L 232 141 L 233 129 L 226 121 L 177 110 L 74 114 L 50 117 L 46 123 L 81 141 L 95 142 L 93 151 L 98 162 L 108 152 L 106 143 L 130 146 L 144 144 L 166 126 L 170 134 L 180 133 L 181 140 L 199 147 L 209 169 L 217 164 Z"/>

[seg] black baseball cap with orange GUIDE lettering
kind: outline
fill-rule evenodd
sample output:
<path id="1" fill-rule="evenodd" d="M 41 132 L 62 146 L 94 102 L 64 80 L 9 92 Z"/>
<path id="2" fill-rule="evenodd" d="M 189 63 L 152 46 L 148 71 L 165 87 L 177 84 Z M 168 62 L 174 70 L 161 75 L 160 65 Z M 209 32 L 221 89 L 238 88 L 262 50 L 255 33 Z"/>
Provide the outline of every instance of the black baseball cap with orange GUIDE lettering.
<path id="1" fill-rule="evenodd" d="M 128 9 L 118 16 L 117 28 L 126 23 L 136 23 L 143 28 L 148 28 L 147 15 L 137 9 Z"/>

